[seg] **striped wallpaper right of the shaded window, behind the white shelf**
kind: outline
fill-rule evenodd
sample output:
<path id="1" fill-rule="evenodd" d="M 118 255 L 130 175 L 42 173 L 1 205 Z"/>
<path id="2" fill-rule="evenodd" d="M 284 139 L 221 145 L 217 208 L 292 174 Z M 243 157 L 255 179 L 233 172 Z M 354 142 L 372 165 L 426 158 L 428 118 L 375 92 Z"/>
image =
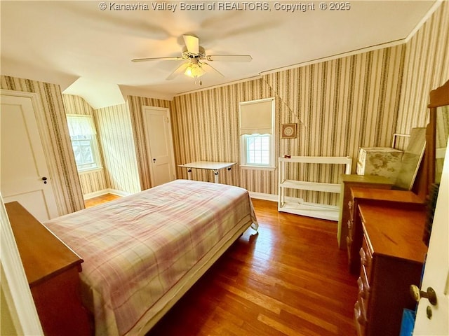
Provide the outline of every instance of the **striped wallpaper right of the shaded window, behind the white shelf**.
<path id="1" fill-rule="evenodd" d="M 396 121 L 403 45 L 272 73 L 280 123 L 298 123 L 297 139 L 279 139 L 280 155 L 350 156 L 358 148 L 389 146 Z M 336 183 L 343 167 L 297 165 L 290 178 Z M 337 195 L 299 193 L 309 202 L 336 204 Z"/>

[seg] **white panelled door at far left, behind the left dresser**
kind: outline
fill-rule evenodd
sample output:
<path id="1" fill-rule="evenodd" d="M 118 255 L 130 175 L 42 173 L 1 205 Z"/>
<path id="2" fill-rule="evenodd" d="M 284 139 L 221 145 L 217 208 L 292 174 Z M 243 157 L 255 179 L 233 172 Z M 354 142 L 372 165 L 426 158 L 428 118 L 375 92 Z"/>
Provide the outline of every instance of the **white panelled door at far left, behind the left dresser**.
<path id="1" fill-rule="evenodd" d="M 58 216 L 32 96 L 1 94 L 0 190 L 4 202 L 18 201 L 39 221 Z"/>

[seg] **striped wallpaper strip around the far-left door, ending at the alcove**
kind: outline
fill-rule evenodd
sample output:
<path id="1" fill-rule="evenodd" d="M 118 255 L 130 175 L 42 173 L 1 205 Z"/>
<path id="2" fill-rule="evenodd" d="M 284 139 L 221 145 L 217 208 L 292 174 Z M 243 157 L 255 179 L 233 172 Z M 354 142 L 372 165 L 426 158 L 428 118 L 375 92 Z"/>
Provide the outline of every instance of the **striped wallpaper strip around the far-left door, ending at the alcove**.
<path id="1" fill-rule="evenodd" d="M 76 172 L 72 144 L 59 85 L 36 80 L 0 76 L 2 89 L 34 92 L 39 95 L 42 111 L 36 116 L 44 142 L 48 169 L 60 215 L 83 209 L 83 195 Z"/>

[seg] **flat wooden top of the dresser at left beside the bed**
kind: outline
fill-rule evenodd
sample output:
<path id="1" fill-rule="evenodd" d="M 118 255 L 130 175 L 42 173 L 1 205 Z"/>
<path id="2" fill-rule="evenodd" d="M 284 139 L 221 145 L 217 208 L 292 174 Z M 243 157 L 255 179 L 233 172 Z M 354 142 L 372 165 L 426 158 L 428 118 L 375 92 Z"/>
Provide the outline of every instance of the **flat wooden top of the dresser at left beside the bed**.
<path id="1" fill-rule="evenodd" d="M 6 203 L 5 207 L 29 286 L 83 262 L 20 203 Z"/>

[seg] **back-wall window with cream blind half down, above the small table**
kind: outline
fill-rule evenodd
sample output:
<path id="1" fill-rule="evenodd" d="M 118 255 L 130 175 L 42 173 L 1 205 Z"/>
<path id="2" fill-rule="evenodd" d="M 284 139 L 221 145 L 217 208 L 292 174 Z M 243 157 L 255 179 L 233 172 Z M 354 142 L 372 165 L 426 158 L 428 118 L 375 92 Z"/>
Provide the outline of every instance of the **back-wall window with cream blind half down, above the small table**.
<path id="1" fill-rule="evenodd" d="M 241 165 L 274 169 L 274 99 L 240 103 Z"/>

